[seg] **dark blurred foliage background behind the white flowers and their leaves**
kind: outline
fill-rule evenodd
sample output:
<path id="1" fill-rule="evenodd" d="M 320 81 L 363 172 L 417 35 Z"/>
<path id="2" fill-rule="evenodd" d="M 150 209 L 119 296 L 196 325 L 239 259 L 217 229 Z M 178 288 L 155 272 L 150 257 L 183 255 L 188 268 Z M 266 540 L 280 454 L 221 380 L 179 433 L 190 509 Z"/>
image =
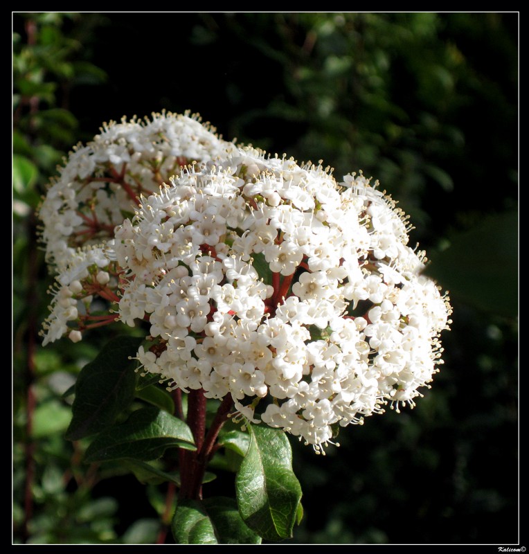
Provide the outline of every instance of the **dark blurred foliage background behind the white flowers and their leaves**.
<path id="1" fill-rule="evenodd" d="M 13 28 L 15 542 L 156 536 L 162 492 L 62 439 L 61 392 L 108 333 L 39 346 L 50 280 L 31 213 L 75 143 L 165 109 L 373 175 L 451 292 L 445 364 L 413 411 L 343 429 L 325 457 L 292 440 L 292 542 L 518 544 L 519 15 L 15 13 Z M 233 495 L 230 479 L 206 494 Z"/>

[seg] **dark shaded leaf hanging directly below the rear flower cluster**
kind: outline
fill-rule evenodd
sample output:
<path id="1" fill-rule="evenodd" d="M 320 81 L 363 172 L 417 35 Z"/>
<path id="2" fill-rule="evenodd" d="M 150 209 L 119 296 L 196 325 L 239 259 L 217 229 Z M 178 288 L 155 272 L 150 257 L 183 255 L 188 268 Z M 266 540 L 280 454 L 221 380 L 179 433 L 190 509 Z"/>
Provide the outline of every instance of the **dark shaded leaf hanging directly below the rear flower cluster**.
<path id="1" fill-rule="evenodd" d="M 82 368 L 66 439 L 78 440 L 105 429 L 134 400 L 136 373 L 129 356 L 136 354 L 141 341 L 139 337 L 112 339 Z"/>

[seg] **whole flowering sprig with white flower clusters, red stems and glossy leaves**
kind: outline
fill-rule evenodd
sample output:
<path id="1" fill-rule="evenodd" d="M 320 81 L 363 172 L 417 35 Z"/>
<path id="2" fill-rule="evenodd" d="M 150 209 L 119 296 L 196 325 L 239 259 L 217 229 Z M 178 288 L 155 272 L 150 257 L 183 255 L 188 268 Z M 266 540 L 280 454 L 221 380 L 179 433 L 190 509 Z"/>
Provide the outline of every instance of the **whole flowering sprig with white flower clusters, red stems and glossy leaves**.
<path id="1" fill-rule="evenodd" d="M 40 217 L 56 274 L 44 343 L 114 321 L 145 330 L 82 370 L 68 435 L 99 433 L 92 461 L 145 463 L 179 446 L 177 542 L 203 542 L 192 522 L 204 509 L 212 529 L 224 521 L 216 542 L 290 536 L 301 490 L 284 431 L 324 454 L 339 427 L 413 407 L 442 363 L 448 298 L 422 276 L 407 217 L 361 172 L 337 181 L 321 163 L 223 141 L 197 116 L 155 114 L 78 146 Z M 132 392 L 93 415 L 87 377 L 105 364 Z M 178 417 L 132 409 L 158 380 Z M 209 425 L 208 399 L 221 401 Z M 202 500 L 219 447 L 241 458 L 236 504 Z M 224 525 L 224 508 L 236 524 Z"/>

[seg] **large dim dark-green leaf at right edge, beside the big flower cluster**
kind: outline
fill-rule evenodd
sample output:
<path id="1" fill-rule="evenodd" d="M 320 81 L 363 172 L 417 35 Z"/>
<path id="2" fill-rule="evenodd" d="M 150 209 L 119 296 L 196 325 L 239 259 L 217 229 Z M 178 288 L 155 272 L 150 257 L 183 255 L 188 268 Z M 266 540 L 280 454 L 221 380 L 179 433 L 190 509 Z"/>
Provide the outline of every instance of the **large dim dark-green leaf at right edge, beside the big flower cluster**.
<path id="1" fill-rule="evenodd" d="M 502 316 L 518 314 L 518 218 L 487 217 L 455 235 L 450 246 L 432 253 L 424 271 L 448 289 L 454 300 Z"/>

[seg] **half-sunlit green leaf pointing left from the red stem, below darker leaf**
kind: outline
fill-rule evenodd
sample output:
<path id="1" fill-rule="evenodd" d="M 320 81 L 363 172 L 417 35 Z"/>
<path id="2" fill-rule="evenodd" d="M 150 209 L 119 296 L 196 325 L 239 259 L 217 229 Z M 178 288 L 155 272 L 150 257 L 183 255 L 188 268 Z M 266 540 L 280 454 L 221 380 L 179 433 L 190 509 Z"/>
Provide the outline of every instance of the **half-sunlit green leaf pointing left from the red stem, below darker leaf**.
<path id="1" fill-rule="evenodd" d="M 156 460 L 169 447 L 196 450 L 191 429 L 174 415 L 149 406 L 132 412 L 125 423 L 102 431 L 87 448 L 85 461 Z"/>

